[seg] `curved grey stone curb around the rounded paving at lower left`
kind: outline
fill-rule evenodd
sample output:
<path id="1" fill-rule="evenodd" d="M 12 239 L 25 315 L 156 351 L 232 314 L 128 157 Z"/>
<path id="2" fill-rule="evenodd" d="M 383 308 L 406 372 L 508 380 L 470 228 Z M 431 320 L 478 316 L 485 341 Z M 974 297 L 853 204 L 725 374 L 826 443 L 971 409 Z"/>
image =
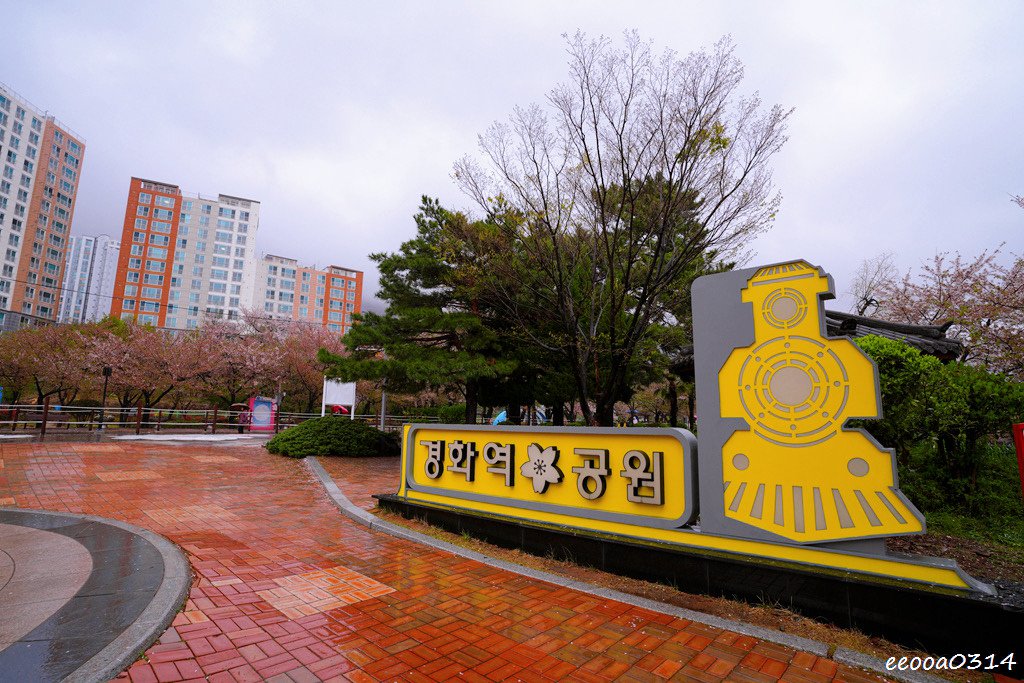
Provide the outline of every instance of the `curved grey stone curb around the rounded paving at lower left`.
<path id="1" fill-rule="evenodd" d="M 66 683 L 106 681 L 120 674 L 167 630 L 181 605 L 184 604 L 185 598 L 188 597 L 188 589 L 191 586 L 191 569 L 188 566 L 188 560 L 180 548 L 158 533 L 134 524 L 95 515 L 26 508 L 10 509 L 117 526 L 145 540 L 157 549 L 164 560 L 164 577 L 160 588 L 157 589 L 156 595 L 153 596 L 153 600 L 142 610 L 142 613 L 121 635 L 65 678 Z"/>

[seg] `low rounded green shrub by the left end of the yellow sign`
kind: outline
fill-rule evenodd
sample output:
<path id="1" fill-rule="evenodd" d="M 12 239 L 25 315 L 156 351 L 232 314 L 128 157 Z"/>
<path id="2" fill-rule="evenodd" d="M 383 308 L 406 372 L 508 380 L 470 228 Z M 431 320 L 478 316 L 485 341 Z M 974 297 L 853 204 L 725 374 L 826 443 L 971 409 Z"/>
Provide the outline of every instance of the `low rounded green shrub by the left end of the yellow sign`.
<path id="1" fill-rule="evenodd" d="M 364 422 L 328 416 L 306 420 L 267 441 L 270 453 L 290 458 L 306 456 L 396 456 L 400 438 Z"/>

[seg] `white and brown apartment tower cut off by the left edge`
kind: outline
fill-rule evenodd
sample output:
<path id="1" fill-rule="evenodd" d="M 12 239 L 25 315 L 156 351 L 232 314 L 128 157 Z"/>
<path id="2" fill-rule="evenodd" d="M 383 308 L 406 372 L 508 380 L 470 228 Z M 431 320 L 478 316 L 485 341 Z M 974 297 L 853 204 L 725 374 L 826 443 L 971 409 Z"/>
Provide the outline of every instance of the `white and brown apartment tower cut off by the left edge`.
<path id="1" fill-rule="evenodd" d="M 85 140 L 0 84 L 0 330 L 55 321 Z"/>

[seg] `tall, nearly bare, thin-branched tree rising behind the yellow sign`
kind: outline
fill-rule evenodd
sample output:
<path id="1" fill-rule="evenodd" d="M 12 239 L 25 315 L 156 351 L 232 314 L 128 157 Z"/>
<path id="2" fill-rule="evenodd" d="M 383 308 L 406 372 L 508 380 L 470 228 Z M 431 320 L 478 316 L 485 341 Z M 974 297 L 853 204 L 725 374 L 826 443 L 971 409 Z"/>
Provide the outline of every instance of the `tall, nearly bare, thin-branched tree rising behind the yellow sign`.
<path id="1" fill-rule="evenodd" d="M 728 38 L 682 58 L 653 55 L 636 33 L 623 49 L 579 32 L 566 41 L 568 82 L 493 125 L 483 162 L 464 158 L 455 177 L 505 217 L 498 306 L 563 354 L 587 421 L 610 424 L 666 297 L 702 254 L 728 257 L 771 224 L 768 162 L 790 112 L 737 94 Z"/>

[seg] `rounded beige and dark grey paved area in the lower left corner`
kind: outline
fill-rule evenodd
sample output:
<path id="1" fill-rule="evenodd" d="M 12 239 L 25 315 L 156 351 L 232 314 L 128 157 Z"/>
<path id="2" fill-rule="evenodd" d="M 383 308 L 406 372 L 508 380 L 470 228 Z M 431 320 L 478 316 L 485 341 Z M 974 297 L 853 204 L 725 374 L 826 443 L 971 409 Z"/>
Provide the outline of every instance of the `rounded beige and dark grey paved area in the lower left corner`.
<path id="1" fill-rule="evenodd" d="M 0 510 L 0 681 L 90 680 L 130 664 L 188 583 L 183 558 L 169 578 L 148 537 L 94 517 Z M 154 617 L 165 579 L 176 597 Z"/>

